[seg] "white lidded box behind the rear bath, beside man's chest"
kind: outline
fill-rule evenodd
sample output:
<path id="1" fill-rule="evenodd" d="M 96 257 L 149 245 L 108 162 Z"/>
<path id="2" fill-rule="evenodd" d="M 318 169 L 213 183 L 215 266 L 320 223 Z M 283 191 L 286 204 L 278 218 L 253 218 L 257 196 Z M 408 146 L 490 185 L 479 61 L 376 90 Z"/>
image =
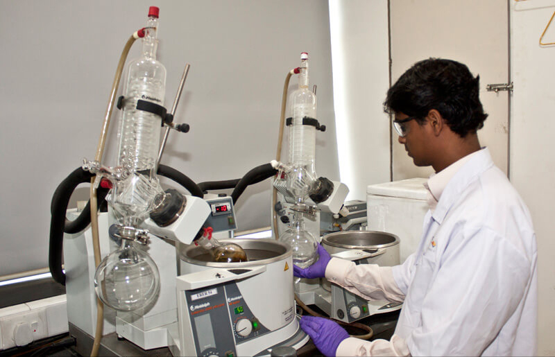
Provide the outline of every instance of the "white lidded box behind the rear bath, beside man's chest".
<path id="1" fill-rule="evenodd" d="M 400 239 L 400 263 L 416 252 L 428 210 L 427 179 L 412 178 L 367 187 L 370 231 L 388 232 Z"/>

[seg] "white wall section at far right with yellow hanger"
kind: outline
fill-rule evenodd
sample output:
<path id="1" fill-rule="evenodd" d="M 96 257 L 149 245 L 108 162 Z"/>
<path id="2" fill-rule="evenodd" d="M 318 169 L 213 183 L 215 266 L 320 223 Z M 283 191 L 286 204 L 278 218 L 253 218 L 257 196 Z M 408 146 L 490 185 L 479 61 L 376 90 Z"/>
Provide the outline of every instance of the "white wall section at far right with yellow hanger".
<path id="1" fill-rule="evenodd" d="M 555 45 L 539 39 L 555 11 L 555 1 L 510 1 L 511 182 L 527 203 L 538 241 L 538 354 L 555 356 Z M 555 21 L 544 42 L 555 42 Z"/>

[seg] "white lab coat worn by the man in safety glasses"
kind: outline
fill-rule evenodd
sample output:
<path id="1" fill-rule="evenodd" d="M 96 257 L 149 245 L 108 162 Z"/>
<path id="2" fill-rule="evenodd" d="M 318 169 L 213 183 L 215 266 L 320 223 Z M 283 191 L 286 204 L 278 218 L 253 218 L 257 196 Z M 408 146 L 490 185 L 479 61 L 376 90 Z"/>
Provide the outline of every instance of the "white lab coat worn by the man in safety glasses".
<path id="1" fill-rule="evenodd" d="M 368 291 L 376 285 L 385 297 L 406 295 L 395 335 L 412 356 L 533 356 L 536 258 L 529 211 L 483 149 L 428 211 L 418 250 L 391 269 L 398 289 L 388 288 L 391 272 L 377 265 L 335 264 L 342 268 L 326 277 Z M 365 272 L 373 273 L 365 280 Z M 348 338 L 338 355 L 369 355 L 371 348 Z M 398 353 L 391 347 L 390 354 Z"/>

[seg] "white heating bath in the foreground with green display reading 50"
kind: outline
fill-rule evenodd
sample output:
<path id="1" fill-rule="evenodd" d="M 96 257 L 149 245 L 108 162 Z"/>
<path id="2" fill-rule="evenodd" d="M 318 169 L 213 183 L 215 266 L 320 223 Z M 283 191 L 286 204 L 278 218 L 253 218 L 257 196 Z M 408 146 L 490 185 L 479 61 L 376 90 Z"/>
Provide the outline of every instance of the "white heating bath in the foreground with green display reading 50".
<path id="1" fill-rule="evenodd" d="M 228 241 L 241 245 L 249 261 L 215 263 L 200 247 L 179 246 L 174 356 L 269 356 L 273 347 L 305 345 L 291 247 L 273 239 Z"/>

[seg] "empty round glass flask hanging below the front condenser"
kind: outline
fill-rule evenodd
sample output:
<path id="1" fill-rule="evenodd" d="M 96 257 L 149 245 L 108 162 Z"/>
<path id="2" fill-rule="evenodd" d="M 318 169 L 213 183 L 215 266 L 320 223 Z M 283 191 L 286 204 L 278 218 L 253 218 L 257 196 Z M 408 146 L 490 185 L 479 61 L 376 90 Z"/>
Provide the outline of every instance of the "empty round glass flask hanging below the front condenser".
<path id="1" fill-rule="evenodd" d="M 94 274 L 94 290 L 101 301 L 119 311 L 145 308 L 160 291 L 160 272 L 153 259 L 123 240 L 106 256 Z"/>

